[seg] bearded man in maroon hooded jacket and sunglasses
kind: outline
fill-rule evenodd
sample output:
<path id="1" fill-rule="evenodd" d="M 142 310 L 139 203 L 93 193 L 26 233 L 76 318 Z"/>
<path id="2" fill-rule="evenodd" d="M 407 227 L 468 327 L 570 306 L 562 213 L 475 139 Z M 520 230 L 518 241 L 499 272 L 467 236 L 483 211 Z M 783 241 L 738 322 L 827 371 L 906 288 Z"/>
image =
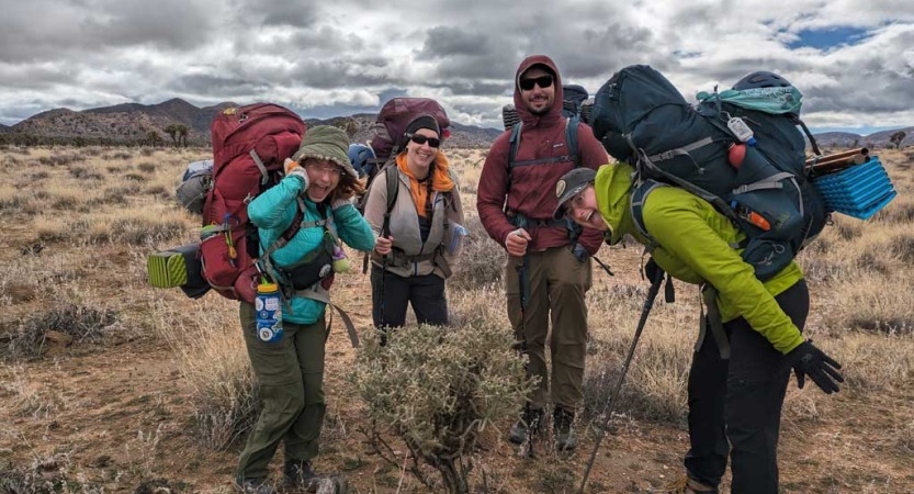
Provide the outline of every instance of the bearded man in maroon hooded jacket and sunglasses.
<path id="1" fill-rule="evenodd" d="M 511 427 L 510 439 L 521 444 L 528 427 L 535 433 L 543 408 L 550 374 L 545 364 L 549 338 L 552 360 L 552 402 L 556 446 L 574 449 L 572 429 L 575 408 L 583 398 L 584 360 L 587 345 L 585 292 L 590 288 L 590 259 L 602 243 L 599 232 L 585 228 L 572 245 L 568 226 L 555 221 L 553 183 L 575 167 L 565 142 L 566 119 L 562 115 L 562 79 L 549 57 L 526 58 L 515 77 L 515 108 L 520 114 L 520 144 L 510 168 L 510 135 L 507 131 L 489 149 L 479 177 L 476 209 L 492 238 L 508 251 L 506 293 L 508 317 L 530 356 L 529 372 L 540 385 L 529 397 L 524 417 Z M 609 161 L 606 150 L 587 125 L 577 130 L 578 166 L 597 169 Z M 573 150 L 572 150 L 573 151 Z M 505 211 L 507 200 L 507 211 Z M 528 258 L 529 299 L 521 321 L 517 267 Z"/>

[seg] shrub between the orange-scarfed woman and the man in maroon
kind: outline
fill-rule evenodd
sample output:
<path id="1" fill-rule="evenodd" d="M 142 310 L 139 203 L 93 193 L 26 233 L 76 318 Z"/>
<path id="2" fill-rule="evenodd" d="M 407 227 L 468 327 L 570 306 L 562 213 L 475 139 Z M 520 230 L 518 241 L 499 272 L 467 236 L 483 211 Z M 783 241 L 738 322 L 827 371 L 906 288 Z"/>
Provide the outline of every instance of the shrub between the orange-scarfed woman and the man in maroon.
<path id="1" fill-rule="evenodd" d="M 488 237 L 478 217 L 466 218 L 469 235 L 463 240 L 463 251 L 454 267 L 454 274 L 448 280 L 449 288 L 471 290 L 483 284 L 501 280 L 505 249 Z"/>

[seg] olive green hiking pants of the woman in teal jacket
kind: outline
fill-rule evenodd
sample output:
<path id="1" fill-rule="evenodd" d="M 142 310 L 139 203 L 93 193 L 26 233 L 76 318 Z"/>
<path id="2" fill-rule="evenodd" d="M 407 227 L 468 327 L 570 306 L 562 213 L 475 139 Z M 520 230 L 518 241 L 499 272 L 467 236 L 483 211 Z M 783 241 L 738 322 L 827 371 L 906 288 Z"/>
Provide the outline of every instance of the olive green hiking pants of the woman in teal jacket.
<path id="1" fill-rule="evenodd" d="M 260 384 L 263 409 L 238 461 L 238 481 L 264 479 L 280 441 L 285 461 L 317 456 L 324 425 L 324 343 L 326 323 L 301 325 L 283 322 L 280 341 L 257 339 L 253 306 L 241 302 L 241 329 L 251 368 Z"/>

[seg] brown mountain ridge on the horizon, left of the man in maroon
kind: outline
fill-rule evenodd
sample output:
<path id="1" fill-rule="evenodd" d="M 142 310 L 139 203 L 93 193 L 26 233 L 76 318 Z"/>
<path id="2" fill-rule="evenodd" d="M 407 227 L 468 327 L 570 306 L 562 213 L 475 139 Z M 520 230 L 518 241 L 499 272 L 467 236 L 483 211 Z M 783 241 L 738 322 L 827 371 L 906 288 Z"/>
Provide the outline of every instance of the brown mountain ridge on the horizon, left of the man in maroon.
<path id="1" fill-rule="evenodd" d="M 237 104 L 224 102 L 215 106 L 198 108 L 174 98 L 158 104 L 124 103 L 79 112 L 61 108 L 33 115 L 12 127 L 0 127 L 0 133 L 24 134 L 33 141 L 81 139 L 86 143 L 137 144 L 147 142 L 149 134 L 155 132 L 165 143 L 170 143 L 171 138 L 165 128 L 180 124 L 189 128 L 189 143 L 207 145 L 210 124 L 219 112 L 229 106 Z M 352 141 L 366 143 L 372 136 L 375 119 L 375 114 L 360 113 L 327 120 L 309 119 L 305 122 L 308 125 L 342 126 L 347 121 L 354 121 L 358 128 Z M 448 147 L 487 147 L 500 131 L 452 123 L 451 133 Z"/>

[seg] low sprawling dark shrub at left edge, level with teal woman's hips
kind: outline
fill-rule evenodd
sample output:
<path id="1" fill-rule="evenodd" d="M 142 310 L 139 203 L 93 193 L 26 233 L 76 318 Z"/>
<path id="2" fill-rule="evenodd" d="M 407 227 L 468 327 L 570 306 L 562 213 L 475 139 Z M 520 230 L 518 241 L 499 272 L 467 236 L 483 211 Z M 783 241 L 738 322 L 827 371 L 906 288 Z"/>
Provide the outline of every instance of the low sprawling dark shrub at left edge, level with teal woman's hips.
<path id="1" fill-rule="evenodd" d="M 37 314 L 19 324 L 10 335 L 8 358 L 33 358 L 42 355 L 49 332 L 69 335 L 74 341 L 99 340 L 104 328 L 117 319 L 113 311 L 67 305 Z"/>

